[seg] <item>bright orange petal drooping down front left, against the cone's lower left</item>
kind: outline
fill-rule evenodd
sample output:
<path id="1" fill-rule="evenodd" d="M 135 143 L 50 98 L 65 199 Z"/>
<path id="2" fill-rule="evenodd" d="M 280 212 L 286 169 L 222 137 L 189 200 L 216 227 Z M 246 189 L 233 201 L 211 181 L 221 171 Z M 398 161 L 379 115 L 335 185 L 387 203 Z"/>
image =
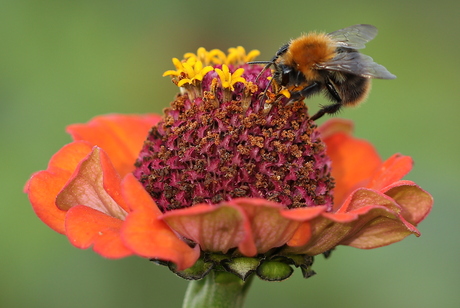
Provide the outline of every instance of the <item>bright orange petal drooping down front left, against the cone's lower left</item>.
<path id="1" fill-rule="evenodd" d="M 132 209 L 122 228 L 122 238 L 136 254 L 174 262 L 178 270 L 192 266 L 200 256 L 199 247 L 190 248 L 171 228 L 158 219 L 160 210 L 142 185 L 128 174 L 122 194 Z"/>

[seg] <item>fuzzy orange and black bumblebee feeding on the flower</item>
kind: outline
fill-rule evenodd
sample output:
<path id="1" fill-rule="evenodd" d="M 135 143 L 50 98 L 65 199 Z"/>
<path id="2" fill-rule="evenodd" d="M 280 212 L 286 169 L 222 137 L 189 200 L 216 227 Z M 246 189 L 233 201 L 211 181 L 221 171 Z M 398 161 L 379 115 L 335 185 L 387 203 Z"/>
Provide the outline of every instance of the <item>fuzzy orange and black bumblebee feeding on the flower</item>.
<path id="1" fill-rule="evenodd" d="M 283 45 L 270 61 L 249 64 L 265 64 L 260 75 L 270 66 L 274 68 L 263 98 L 272 83 L 276 93 L 281 87 L 286 88 L 292 100 L 324 93 L 332 104 L 321 106 L 311 117 L 317 120 L 324 114 L 337 113 L 343 106 L 363 102 L 369 93 L 371 78 L 396 78 L 371 57 L 358 52 L 376 35 L 377 28 L 366 24 L 328 34 L 308 33 Z"/>

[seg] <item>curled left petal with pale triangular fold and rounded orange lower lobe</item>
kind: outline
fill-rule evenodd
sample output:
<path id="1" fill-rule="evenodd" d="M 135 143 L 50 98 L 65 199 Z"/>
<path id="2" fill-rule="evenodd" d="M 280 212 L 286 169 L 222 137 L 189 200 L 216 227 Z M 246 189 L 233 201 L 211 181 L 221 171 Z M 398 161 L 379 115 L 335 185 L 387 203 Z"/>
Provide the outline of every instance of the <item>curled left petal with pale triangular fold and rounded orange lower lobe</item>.
<path id="1" fill-rule="evenodd" d="M 119 191 L 120 178 L 110 159 L 94 147 L 56 197 L 56 207 L 66 213 L 65 233 L 73 245 L 82 249 L 93 246 L 107 258 L 132 254 L 119 235 L 127 214 Z"/>

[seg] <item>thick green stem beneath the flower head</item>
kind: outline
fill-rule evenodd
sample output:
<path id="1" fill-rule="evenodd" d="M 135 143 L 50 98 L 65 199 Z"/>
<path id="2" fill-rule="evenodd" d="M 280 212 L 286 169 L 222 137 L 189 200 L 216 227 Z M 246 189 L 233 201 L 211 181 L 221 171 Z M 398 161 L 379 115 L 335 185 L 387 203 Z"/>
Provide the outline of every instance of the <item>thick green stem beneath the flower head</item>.
<path id="1" fill-rule="evenodd" d="M 182 308 L 241 308 L 252 278 L 243 281 L 231 273 L 211 271 L 201 280 L 190 281 Z"/>

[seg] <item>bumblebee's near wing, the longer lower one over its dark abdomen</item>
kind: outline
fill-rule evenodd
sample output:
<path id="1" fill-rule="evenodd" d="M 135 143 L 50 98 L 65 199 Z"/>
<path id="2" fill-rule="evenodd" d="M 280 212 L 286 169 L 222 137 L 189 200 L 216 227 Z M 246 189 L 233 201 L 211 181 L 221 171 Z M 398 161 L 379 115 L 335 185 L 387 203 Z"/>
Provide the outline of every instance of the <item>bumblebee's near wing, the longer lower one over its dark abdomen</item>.
<path id="1" fill-rule="evenodd" d="M 334 59 L 324 64 L 318 64 L 317 69 L 351 73 L 366 78 L 395 79 L 383 65 L 359 52 L 339 53 Z"/>

